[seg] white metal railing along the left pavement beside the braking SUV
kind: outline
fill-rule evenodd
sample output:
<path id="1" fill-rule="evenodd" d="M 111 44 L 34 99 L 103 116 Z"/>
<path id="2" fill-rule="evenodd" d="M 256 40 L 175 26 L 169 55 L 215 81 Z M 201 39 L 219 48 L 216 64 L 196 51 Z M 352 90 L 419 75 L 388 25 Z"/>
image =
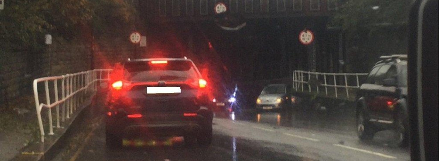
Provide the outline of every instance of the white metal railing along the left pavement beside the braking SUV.
<path id="1" fill-rule="evenodd" d="M 94 69 L 86 72 L 66 74 L 60 76 L 43 77 L 33 80 L 33 93 L 35 97 L 36 115 L 40 126 L 41 142 L 44 142 L 44 127 L 41 111 L 47 109 L 48 135 L 54 135 L 52 108 L 55 108 L 56 128 L 63 128 L 62 122 L 72 118 L 73 112 L 83 102 L 97 91 L 97 83 L 107 81 L 112 69 Z M 44 83 L 45 94 L 38 93 L 38 85 Z M 59 83 L 59 84 L 58 84 Z M 49 85 L 50 84 L 50 85 Z M 53 85 L 52 87 L 50 87 Z M 59 92 L 60 90 L 60 92 Z M 46 98 L 46 103 L 40 104 L 40 97 Z M 61 119 L 60 119 L 61 107 Z"/>

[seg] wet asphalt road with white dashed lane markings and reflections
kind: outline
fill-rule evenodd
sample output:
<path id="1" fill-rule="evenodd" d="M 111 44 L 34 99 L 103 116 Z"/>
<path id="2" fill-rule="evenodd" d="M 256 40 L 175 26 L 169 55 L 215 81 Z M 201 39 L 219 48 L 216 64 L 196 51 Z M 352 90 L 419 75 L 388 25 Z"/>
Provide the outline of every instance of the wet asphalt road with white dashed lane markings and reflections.
<path id="1" fill-rule="evenodd" d="M 351 125 L 343 121 L 316 123 L 320 116 L 309 119 L 310 115 L 298 112 L 275 111 L 217 114 L 210 147 L 187 146 L 183 138 L 174 137 L 128 139 L 129 145 L 110 150 L 105 147 L 101 103 L 91 108 L 83 126 L 72 132 L 52 161 L 410 160 L 408 149 L 392 147 L 392 132 L 378 132 L 371 142 L 361 143 Z"/>

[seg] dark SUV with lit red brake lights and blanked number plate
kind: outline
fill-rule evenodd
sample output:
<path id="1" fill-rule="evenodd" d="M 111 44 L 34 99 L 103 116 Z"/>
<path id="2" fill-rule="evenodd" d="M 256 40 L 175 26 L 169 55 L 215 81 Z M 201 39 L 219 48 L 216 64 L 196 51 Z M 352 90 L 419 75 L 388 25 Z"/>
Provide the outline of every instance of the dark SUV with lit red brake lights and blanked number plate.
<path id="1" fill-rule="evenodd" d="M 111 75 L 106 143 L 124 137 L 184 136 L 186 143 L 212 142 L 207 82 L 186 58 L 129 60 Z"/>

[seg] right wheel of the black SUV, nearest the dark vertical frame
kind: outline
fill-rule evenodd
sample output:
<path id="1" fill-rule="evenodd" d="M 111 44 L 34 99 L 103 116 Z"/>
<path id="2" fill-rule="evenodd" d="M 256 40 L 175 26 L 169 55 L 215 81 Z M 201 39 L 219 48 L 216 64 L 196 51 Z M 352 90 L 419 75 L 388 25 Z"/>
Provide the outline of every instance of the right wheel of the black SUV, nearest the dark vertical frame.
<path id="1" fill-rule="evenodd" d="M 401 110 L 398 111 L 395 118 L 395 143 L 398 147 L 408 146 L 408 132 L 407 132 L 407 119 L 404 119 L 404 115 Z"/>

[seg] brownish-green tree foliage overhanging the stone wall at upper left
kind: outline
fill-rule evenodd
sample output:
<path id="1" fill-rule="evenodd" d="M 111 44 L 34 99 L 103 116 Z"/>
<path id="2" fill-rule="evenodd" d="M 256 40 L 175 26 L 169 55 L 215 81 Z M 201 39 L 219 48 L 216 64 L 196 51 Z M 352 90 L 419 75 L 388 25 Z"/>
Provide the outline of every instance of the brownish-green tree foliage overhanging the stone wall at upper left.
<path id="1" fill-rule="evenodd" d="M 0 11 L 0 47 L 38 47 L 46 33 L 75 39 L 83 32 L 123 31 L 133 28 L 135 16 L 124 0 L 6 0 Z"/>

